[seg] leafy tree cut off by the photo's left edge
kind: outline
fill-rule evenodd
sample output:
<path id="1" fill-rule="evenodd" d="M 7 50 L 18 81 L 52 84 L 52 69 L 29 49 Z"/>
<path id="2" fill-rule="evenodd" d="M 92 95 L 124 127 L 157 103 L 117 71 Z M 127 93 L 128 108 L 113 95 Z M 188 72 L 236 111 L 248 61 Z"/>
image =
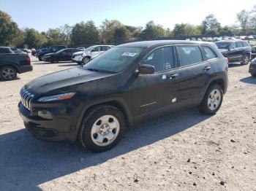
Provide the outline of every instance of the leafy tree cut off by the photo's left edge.
<path id="1" fill-rule="evenodd" d="M 12 21 L 10 15 L 0 11 L 0 45 L 12 45 L 12 39 L 18 34 L 18 25 Z"/>

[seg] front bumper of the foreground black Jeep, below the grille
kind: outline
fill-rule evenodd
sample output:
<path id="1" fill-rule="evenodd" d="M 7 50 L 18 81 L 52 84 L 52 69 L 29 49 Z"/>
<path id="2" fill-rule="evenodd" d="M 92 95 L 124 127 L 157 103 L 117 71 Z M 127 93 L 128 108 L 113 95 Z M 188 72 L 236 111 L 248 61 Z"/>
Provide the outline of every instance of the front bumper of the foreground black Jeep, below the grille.
<path id="1" fill-rule="evenodd" d="M 21 102 L 18 104 L 18 111 L 26 129 L 29 130 L 35 138 L 45 141 L 76 141 L 76 130 L 67 132 L 60 132 L 58 130 L 58 128 L 67 125 L 67 123 L 69 124 L 69 122 L 63 119 L 59 120 L 58 118 L 47 120 L 39 116 L 31 116 L 31 112 L 29 112 Z"/>

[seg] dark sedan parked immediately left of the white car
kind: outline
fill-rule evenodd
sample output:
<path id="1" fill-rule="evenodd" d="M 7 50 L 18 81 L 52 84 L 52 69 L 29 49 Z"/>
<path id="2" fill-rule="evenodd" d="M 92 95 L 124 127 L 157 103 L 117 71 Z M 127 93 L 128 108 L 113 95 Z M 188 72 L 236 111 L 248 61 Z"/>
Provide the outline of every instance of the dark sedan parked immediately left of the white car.
<path id="1" fill-rule="evenodd" d="M 58 63 L 59 61 L 71 61 L 73 53 L 80 51 L 77 48 L 66 48 L 55 53 L 49 53 L 42 57 L 42 60 L 50 63 Z"/>

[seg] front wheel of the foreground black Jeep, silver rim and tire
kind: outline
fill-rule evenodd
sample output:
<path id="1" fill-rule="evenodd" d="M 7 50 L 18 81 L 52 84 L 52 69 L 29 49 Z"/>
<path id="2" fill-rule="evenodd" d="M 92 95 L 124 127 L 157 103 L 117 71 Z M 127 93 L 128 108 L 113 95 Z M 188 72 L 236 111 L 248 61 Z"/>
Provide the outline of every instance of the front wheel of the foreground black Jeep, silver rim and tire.
<path id="1" fill-rule="evenodd" d="M 111 128 L 112 126 L 112 128 Z M 125 133 L 124 115 L 114 106 L 96 106 L 87 112 L 78 139 L 92 152 L 105 152 L 118 144 Z"/>

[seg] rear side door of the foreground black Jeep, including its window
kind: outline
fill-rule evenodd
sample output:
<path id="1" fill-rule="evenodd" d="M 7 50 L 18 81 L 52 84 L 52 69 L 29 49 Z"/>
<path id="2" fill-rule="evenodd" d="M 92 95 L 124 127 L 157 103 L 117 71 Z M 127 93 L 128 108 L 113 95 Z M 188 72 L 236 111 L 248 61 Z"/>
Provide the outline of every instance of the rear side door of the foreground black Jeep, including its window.
<path id="1" fill-rule="evenodd" d="M 176 45 L 178 53 L 178 107 L 199 104 L 203 87 L 210 79 L 211 62 L 206 61 L 198 45 Z"/>

